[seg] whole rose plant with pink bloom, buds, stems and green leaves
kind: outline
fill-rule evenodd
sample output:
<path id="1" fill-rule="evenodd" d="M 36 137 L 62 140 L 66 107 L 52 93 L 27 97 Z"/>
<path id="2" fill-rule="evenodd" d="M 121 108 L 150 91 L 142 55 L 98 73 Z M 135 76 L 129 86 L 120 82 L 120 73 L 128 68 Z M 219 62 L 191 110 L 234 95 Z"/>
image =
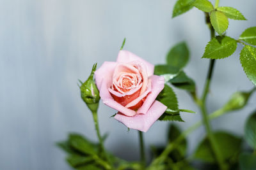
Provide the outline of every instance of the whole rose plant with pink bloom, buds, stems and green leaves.
<path id="1" fill-rule="evenodd" d="M 256 169 L 256 113 L 248 117 L 244 127 L 244 138 L 226 131 L 213 131 L 211 120 L 226 113 L 243 109 L 256 85 L 256 27 L 246 29 L 239 39 L 226 36 L 228 18 L 246 20 L 240 11 L 232 7 L 214 6 L 208 0 L 177 0 L 173 17 L 186 13 L 191 8 L 204 11 L 211 39 L 205 46 L 202 58 L 209 59 L 209 69 L 202 90 L 198 96 L 196 83 L 184 72 L 189 61 L 189 48 L 185 42 L 177 43 L 166 56 L 166 64 L 154 65 L 145 57 L 138 57 L 123 50 L 125 39 L 116 62 L 104 62 L 86 81 L 80 81 L 81 98 L 92 111 L 99 143 L 90 141 L 80 134 L 71 133 L 58 146 L 68 153 L 67 162 L 75 169 Z M 218 33 L 218 36 L 216 36 Z M 247 91 L 235 92 L 227 103 L 218 110 L 208 113 L 207 96 L 211 85 L 216 60 L 227 58 L 243 45 L 240 53 L 244 73 L 253 83 Z M 94 79 L 95 78 L 95 79 Z M 185 131 L 170 124 L 168 143 L 152 146 L 152 159 L 147 159 L 143 144 L 143 132 L 147 132 L 156 120 L 184 122 L 180 112 L 195 113 L 179 109 L 175 90 L 186 90 L 198 106 L 202 120 Z M 108 152 L 104 147 L 107 136 L 101 136 L 98 124 L 99 101 L 116 110 L 113 117 L 129 129 L 138 130 L 140 135 L 141 160 L 127 162 Z M 204 125 L 205 137 L 191 155 L 187 152 L 186 137 Z M 247 145 L 243 144 L 246 141 Z M 246 146 L 244 148 L 244 146 Z M 254 152 L 253 152 L 254 150 Z M 146 161 L 147 160 L 147 161 Z"/>

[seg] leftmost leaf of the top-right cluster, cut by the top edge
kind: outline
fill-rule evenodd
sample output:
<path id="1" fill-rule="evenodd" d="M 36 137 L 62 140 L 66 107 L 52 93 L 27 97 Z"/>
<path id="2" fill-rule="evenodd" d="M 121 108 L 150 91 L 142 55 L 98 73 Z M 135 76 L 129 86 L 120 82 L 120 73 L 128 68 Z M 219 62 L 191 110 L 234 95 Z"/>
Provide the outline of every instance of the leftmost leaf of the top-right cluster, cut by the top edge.
<path id="1" fill-rule="evenodd" d="M 191 8 L 193 8 L 194 1 L 195 0 L 178 0 L 173 8 L 172 17 L 177 17 L 178 15 L 189 11 Z"/>

